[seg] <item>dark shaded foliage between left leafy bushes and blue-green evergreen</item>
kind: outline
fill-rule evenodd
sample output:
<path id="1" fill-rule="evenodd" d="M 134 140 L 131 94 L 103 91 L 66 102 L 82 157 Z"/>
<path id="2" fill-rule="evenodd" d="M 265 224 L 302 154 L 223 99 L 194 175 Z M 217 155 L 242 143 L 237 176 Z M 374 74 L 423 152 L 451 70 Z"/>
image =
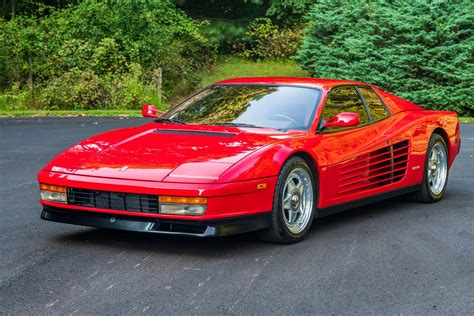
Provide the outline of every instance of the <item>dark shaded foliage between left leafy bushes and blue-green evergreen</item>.
<path id="1" fill-rule="evenodd" d="M 312 0 L 175 0 L 195 19 L 206 19 L 204 35 L 220 54 L 253 59 L 282 58 L 296 53 L 302 16 Z M 268 52 L 264 51 L 268 48 Z"/>

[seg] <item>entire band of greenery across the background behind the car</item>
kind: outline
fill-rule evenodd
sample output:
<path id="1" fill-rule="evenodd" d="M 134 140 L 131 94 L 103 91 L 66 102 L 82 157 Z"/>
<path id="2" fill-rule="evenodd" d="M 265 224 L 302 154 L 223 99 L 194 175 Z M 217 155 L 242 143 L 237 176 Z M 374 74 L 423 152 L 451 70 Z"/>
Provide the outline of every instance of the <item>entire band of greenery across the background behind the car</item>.
<path id="1" fill-rule="evenodd" d="M 470 0 L 5 0 L 0 16 L 1 111 L 136 109 L 309 73 L 474 115 Z"/>

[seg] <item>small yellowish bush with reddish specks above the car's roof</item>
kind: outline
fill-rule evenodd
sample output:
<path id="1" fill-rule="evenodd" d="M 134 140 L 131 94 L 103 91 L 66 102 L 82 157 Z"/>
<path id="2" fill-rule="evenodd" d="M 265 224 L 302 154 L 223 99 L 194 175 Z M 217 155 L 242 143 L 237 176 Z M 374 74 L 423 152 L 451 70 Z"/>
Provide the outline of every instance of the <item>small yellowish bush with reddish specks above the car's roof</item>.
<path id="1" fill-rule="evenodd" d="M 288 58 L 296 54 L 301 31 L 297 27 L 280 29 L 269 18 L 251 22 L 248 43 L 242 55 L 252 59 Z"/>

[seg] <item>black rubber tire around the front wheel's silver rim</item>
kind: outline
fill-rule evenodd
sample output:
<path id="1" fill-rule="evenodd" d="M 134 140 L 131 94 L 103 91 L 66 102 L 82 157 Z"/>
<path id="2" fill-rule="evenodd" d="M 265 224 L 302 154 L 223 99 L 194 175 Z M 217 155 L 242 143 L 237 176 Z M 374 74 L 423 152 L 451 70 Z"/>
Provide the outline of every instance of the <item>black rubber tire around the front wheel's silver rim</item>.
<path id="1" fill-rule="evenodd" d="M 311 184 L 313 188 L 313 203 L 309 221 L 307 222 L 303 231 L 298 234 L 292 233 L 287 225 L 285 224 L 284 214 L 283 214 L 283 190 L 285 182 L 288 176 L 292 173 L 293 170 L 297 168 L 303 168 L 310 176 Z M 283 166 L 278 176 L 277 184 L 275 187 L 275 193 L 273 197 L 273 210 L 272 210 L 272 220 L 271 226 L 267 229 L 257 231 L 257 236 L 264 241 L 269 241 L 279 244 L 292 244 L 302 240 L 308 233 L 308 230 L 311 228 L 313 218 L 317 209 L 318 201 L 318 190 L 317 190 L 317 178 L 311 171 L 311 168 L 308 164 L 300 157 L 290 158 Z"/>

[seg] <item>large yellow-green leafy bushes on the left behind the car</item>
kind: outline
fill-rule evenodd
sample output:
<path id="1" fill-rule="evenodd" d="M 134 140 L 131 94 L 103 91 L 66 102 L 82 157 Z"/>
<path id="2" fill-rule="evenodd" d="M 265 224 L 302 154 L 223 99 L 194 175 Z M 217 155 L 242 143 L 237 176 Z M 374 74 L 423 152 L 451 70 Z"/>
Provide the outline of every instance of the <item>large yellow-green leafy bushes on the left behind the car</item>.
<path id="1" fill-rule="evenodd" d="M 158 68 L 170 96 L 193 89 L 214 58 L 201 23 L 168 1 L 50 10 L 0 21 L 0 107 L 137 108 L 160 97 Z"/>

